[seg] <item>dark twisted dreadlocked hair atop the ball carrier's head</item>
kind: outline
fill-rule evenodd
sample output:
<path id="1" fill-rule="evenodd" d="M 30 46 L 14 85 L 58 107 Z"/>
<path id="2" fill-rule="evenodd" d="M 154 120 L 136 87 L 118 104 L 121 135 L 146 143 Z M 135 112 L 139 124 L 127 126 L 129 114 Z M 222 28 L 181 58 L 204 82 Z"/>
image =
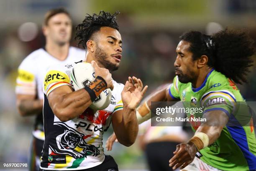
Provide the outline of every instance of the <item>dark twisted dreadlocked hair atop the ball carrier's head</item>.
<path id="1" fill-rule="evenodd" d="M 84 49 L 87 49 L 87 41 L 92 38 L 92 35 L 100 30 L 102 27 L 110 27 L 119 30 L 118 23 L 115 18 L 119 14 L 119 11 L 113 15 L 103 10 L 100 11 L 99 15 L 93 13 L 92 15 L 87 14 L 83 22 L 77 25 L 75 39 L 78 40 L 78 45 L 82 44 Z"/>

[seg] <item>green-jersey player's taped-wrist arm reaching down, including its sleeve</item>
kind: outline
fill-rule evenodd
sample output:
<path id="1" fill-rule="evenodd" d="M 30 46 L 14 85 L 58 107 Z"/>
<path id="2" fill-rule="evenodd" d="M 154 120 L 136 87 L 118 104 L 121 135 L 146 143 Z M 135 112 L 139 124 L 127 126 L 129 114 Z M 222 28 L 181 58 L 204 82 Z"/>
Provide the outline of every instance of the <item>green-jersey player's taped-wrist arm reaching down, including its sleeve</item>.
<path id="1" fill-rule="evenodd" d="M 185 143 L 177 145 L 174 156 L 169 160 L 173 170 L 185 168 L 191 163 L 197 151 L 214 143 L 236 109 L 236 96 L 228 88 L 213 88 L 200 99 L 205 122 L 196 129 L 195 135 Z M 231 119 L 233 120 L 233 119 Z"/>

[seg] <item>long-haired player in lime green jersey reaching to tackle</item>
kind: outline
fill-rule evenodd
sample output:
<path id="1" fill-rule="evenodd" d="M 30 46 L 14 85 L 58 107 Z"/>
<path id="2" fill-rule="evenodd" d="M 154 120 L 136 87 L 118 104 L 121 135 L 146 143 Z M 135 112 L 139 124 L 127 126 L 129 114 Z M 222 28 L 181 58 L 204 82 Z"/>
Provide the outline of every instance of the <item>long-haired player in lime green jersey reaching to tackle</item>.
<path id="1" fill-rule="evenodd" d="M 151 96 L 141 114 L 150 115 L 151 101 L 182 100 L 184 107 L 203 107 L 203 113 L 187 113 L 188 118 L 207 121 L 192 123 L 195 135 L 177 146 L 169 165 L 183 171 L 256 170 L 253 124 L 243 126 L 235 116 L 247 112 L 239 111 L 239 102 L 245 100 L 235 83 L 246 82 L 255 53 L 253 40 L 240 30 L 225 29 L 213 36 L 190 31 L 180 37 L 176 52 L 173 85 Z M 235 126 L 226 125 L 232 121 Z"/>

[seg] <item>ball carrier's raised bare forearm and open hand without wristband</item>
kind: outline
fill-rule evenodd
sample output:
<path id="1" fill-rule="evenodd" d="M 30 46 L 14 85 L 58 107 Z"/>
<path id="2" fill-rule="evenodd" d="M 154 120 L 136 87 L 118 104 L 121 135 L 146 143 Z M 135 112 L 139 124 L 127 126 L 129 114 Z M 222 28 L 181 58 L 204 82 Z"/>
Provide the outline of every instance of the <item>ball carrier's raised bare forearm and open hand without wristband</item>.
<path id="1" fill-rule="evenodd" d="M 116 111 L 112 117 L 112 125 L 118 141 L 124 146 L 131 146 L 138 134 L 136 107 L 140 103 L 148 86 L 143 88 L 140 79 L 129 77 L 121 93 L 123 110 Z"/>

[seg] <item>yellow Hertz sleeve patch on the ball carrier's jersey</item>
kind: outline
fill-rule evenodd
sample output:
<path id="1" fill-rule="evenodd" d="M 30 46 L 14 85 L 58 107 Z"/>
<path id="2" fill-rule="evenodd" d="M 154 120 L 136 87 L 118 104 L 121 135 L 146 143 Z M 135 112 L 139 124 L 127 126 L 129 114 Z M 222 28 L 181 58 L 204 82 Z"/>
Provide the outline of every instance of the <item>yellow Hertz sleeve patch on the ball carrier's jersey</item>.
<path id="1" fill-rule="evenodd" d="M 46 90 L 46 87 L 49 84 L 55 83 L 55 82 L 66 82 L 69 84 L 70 79 L 67 74 L 62 73 L 59 70 L 50 70 L 44 78 L 44 89 Z"/>

